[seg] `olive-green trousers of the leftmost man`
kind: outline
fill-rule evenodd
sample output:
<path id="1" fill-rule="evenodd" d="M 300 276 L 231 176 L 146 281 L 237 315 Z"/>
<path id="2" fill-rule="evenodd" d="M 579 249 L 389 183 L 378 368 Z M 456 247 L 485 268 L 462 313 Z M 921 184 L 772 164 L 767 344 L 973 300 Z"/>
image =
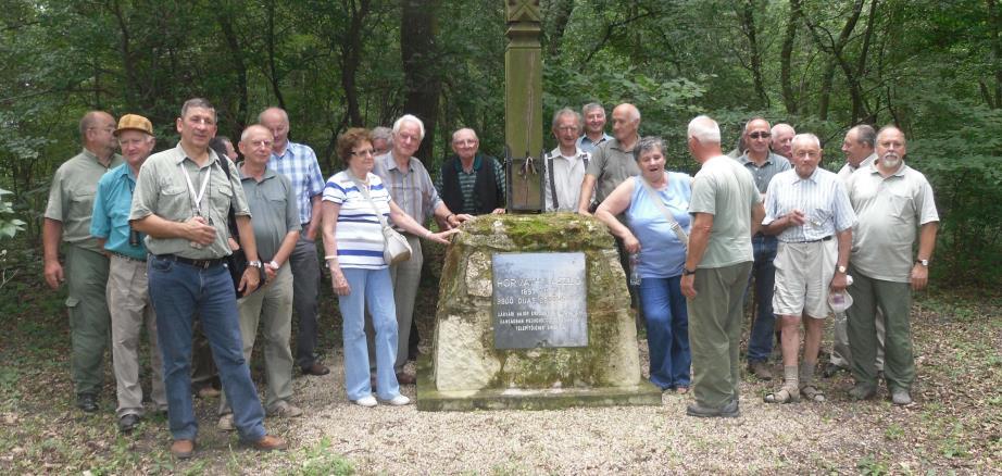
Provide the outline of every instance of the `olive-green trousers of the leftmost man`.
<path id="1" fill-rule="evenodd" d="M 101 392 L 101 361 L 111 334 L 108 312 L 108 256 L 74 245 L 66 246 L 66 308 L 70 311 L 70 359 L 77 394 Z"/>

